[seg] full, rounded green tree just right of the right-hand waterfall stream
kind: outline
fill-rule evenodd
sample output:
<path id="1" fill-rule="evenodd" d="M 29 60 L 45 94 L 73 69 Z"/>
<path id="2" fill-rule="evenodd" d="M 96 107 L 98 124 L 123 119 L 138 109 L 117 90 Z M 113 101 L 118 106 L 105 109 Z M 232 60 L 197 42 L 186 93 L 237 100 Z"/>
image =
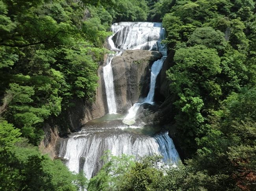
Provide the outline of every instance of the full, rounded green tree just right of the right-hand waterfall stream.
<path id="1" fill-rule="evenodd" d="M 216 83 L 216 77 L 221 73 L 220 58 L 214 49 L 194 46 L 178 49 L 174 62 L 176 64 L 167 71 L 167 76 L 171 80 L 171 92 L 178 97 L 175 105 L 183 113 L 179 113 L 176 118 L 184 121 L 184 112 L 188 115 L 191 113 L 195 118 L 187 116 L 186 119 L 195 121 L 195 126 L 198 126 L 197 121 L 203 120 L 196 113 L 200 113 L 203 105 L 207 107 L 208 104 L 214 104 L 221 95 Z M 186 120 L 184 123 L 187 123 Z M 193 123 L 188 121 L 187 125 L 193 126 Z"/>

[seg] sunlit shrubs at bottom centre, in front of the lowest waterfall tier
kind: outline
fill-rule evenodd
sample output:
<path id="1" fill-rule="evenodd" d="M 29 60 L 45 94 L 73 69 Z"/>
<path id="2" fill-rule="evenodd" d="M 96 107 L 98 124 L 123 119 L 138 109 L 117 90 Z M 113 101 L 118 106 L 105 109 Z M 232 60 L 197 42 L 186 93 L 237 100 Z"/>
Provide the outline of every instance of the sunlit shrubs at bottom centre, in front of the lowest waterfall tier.
<path id="1" fill-rule="evenodd" d="M 123 157 L 123 156 L 122 156 Z M 121 159 L 120 157 L 119 159 Z M 93 180 L 90 180 L 88 190 L 118 190 L 118 191 L 166 191 L 166 190 L 200 190 L 200 191 L 225 191 L 238 190 L 233 182 L 229 182 L 227 175 L 209 175 L 207 171 L 195 171 L 192 160 L 186 161 L 184 166 L 181 162 L 178 166 L 164 166 L 157 169 L 155 163 L 159 161 L 158 156 L 144 157 L 130 168 L 125 168 L 124 175 L 117 175 L 117 181 L 108 182 L 106 187 L 99 184 L 92 184 L 96 177 L 102 178 L 104 174 L 101 170 Z M 122 164 L 124 160 L 119 160 Z M 109 164 L 109 168 L 114 168 L 117 164 Z M 105 175 L 106 177 L 106 175 Z M 102 180 L 102 179 L 101 179 Z M 106 179 L 105 179 L 106 181 Z M 226 182 L 225 182 L 226 181 Z M 92 187 L 93 186 L 93 187 Z"/>

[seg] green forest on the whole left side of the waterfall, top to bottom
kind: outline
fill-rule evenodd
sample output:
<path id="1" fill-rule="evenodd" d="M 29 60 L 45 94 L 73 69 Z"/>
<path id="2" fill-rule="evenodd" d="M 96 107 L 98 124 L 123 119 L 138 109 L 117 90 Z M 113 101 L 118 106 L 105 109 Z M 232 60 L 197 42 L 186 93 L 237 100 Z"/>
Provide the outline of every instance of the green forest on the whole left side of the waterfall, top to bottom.
<path id="1" fill-rule="evenodd" d="M 46 120 L 65 131 L 74 98 L 93 101 L 111 23 L 146 20 L 137 0 L 0 0 L 0 190 L 85 184 L 37 145 Z"/>

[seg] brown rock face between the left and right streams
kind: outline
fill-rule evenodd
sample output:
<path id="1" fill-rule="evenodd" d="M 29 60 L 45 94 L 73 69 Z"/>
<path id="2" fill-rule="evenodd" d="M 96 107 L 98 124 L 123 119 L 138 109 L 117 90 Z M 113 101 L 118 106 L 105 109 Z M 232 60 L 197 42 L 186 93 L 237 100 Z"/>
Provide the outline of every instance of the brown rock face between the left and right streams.
<path id="1" fill-rule="evenodd" d="M 127 50 L 112 60 L 117 112 L 127 113 L 149 91 L 150 68 L 161 58 L 157 51 Z"/>

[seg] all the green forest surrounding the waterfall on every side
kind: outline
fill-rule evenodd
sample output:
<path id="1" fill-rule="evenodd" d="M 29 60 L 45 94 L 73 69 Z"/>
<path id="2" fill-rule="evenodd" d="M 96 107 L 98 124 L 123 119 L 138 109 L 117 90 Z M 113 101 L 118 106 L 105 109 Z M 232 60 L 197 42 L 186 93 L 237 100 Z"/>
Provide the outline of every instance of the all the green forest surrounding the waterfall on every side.
<path id="1" fill-rule="evenodd" d="M 253 0 L 0 0 L 0 190 L 87 186 L 38 151 L 43 124 L 66 124 L 74 98 L 93 102 L 111 23 L 145 20 L 163 22 L 174 52 L 171 128 L 187 160 L 159 170 L 158 156 L 112 156 L 88 190 L 255 190 L 255 11 Z"/>

